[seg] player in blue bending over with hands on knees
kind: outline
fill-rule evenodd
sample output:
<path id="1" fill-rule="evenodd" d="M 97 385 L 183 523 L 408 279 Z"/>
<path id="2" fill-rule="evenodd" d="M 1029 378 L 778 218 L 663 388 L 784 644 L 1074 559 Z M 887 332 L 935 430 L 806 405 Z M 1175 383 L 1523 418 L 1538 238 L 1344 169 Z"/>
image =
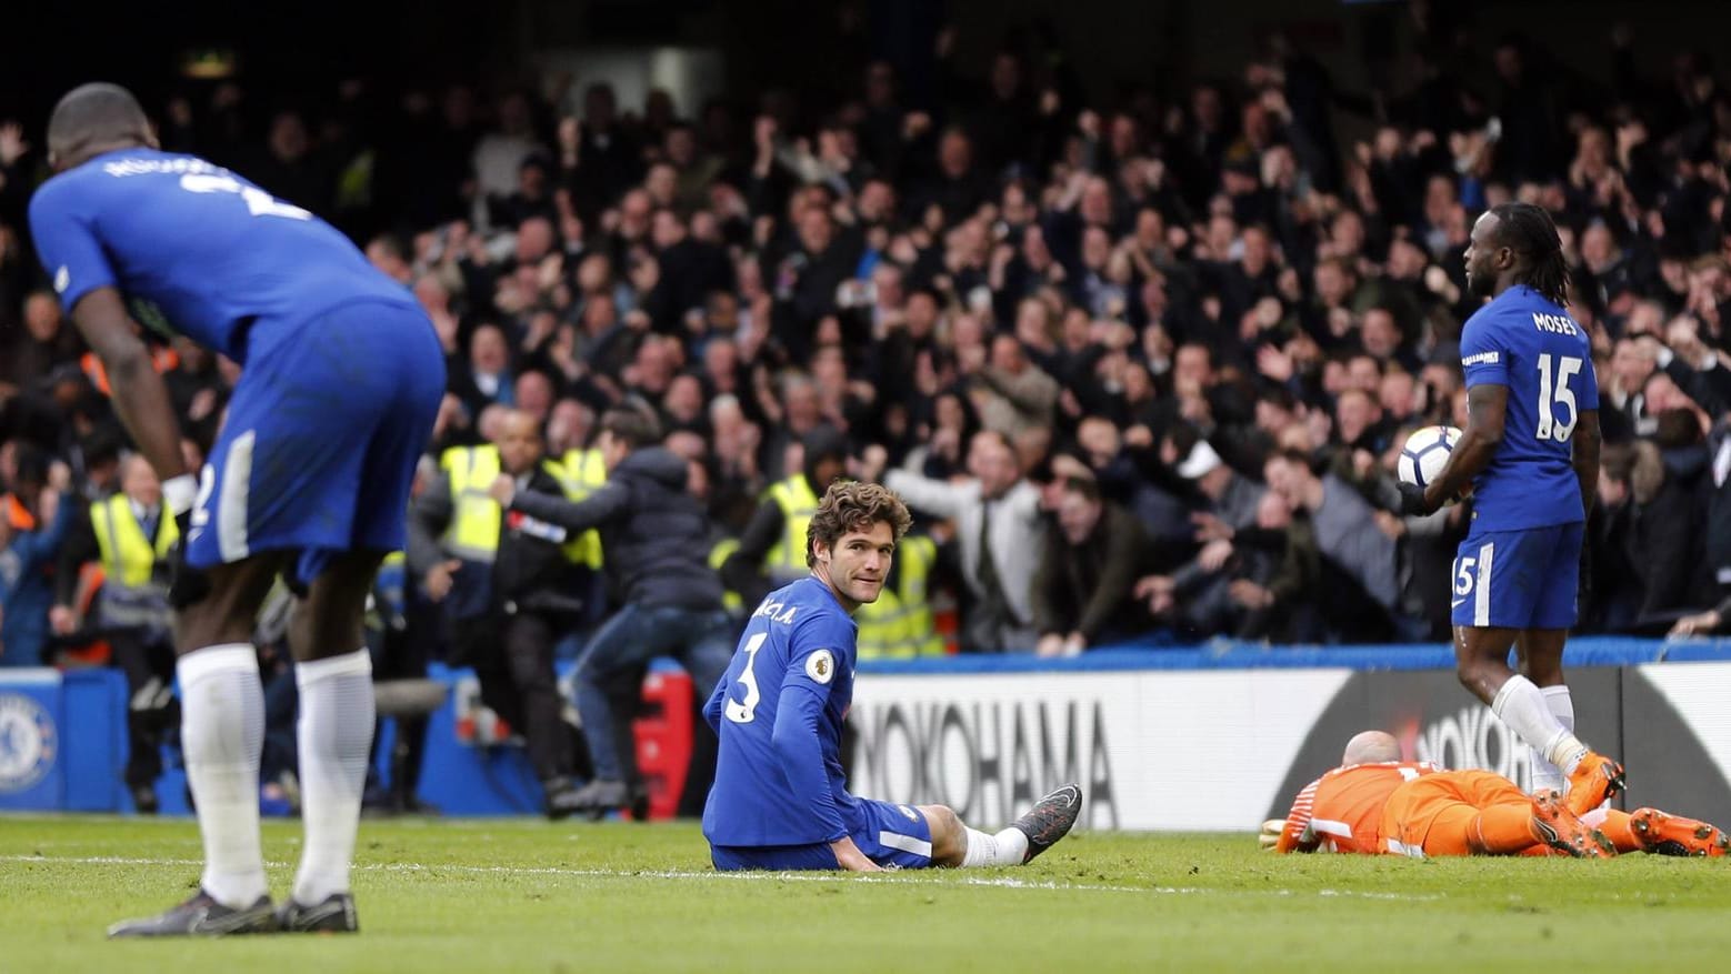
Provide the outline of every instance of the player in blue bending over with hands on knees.
<path id="1" fill-rule="evenodd" d="M 170 600 L 204 875 L 185 903 L 109 934 L 353 931 L 350 858 L 374 723 L 362 611 L 379 561 L 403 547 L 409 484 L 445 386 L 438 339 L 414 298 L 312 213 L 158 151 L 125 88 L 61 99 L 48 154 L 57 175 L 29 206 L 42 263 L 102 358 L 183 538 Z M 244 367 L 197 481 L 135 320 Z M 273 910 L 251 633 L 279 573 L 303 593 L 289 645 L 306 843 L 291 898 Z"/>

